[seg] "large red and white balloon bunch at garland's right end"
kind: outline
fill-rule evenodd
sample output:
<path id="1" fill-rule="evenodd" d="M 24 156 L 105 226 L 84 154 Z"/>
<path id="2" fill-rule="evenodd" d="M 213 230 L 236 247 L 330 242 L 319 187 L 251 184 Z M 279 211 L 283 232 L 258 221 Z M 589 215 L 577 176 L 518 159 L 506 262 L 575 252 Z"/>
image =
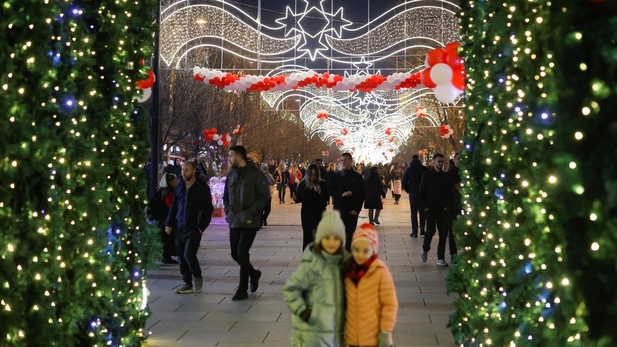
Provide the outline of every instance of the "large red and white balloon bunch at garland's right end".
<path id="1" fill-rule="evenodd" d="M 435 97 L 444 104 L 453 102 L 465 90 L 465 67 L 458 56 L 458 43 L 449 43 L 444 49 L 437 48 L 426 56 L 426 70 L 421 82 L 433 88 Z"/>

